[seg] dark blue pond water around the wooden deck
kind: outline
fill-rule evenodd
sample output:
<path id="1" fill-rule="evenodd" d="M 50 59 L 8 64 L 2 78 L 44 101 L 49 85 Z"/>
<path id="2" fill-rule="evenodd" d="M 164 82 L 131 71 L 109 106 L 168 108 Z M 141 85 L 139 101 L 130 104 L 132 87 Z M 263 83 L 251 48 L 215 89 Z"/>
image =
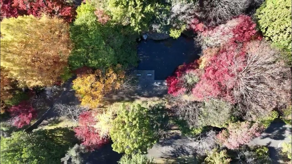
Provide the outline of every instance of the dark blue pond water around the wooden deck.
<path id="1" fill-rule="evenodd" d="M 200 48 L 195 48 L 194 39 L 185 36 L 142 40 L 138 43 L 138 70 L 154 70 L 155 80 L 165 80 L 179 65 L 198 59 L 200 52 Z"/>

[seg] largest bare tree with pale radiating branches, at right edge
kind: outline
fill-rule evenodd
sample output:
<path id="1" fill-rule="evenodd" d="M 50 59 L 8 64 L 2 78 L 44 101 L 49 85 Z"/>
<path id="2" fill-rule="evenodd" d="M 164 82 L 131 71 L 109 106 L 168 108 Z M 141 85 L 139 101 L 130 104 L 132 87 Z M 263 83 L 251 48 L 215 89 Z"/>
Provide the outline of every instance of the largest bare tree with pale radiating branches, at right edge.
<path id="1" fill-rule="evenodd" d="M 267 116 L 281 101 L 279 88 L 291 73 L 277 61 L 278 53 L 266 41 L 249 43 L 246 53 L 246 61 L 234 60 L 234 97 L 239 102 L 240 114 L 255 120 Z"/>

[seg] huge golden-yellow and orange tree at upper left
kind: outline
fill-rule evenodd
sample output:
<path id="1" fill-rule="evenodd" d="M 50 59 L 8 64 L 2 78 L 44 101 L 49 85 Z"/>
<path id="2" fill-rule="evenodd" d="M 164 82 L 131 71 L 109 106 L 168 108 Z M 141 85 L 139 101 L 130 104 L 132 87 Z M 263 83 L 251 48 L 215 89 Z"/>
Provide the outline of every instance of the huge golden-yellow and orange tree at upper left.
<path id="1" fill-rule="evenodd" d="M 50 86 L 67 67 L 69 26 L 58 18 L 32 15 L 1 22 L 1 66 L 28 87 Z"/>

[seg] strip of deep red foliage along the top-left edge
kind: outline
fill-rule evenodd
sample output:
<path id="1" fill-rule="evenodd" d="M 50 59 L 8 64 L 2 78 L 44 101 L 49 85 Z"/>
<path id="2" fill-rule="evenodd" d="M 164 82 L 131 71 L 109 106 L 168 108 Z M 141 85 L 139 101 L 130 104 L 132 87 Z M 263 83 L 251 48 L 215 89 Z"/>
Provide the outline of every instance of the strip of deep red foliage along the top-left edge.
<path id="1" fill-rule="evenodd" d="M 66 22 L 72 22 L 76 16 L 76 8 L 65 0 L 1 0 L 1 17 L 10 18 L 19 15 L 34 15 L 41 17 L 42 14 L 57 16 Z"/>

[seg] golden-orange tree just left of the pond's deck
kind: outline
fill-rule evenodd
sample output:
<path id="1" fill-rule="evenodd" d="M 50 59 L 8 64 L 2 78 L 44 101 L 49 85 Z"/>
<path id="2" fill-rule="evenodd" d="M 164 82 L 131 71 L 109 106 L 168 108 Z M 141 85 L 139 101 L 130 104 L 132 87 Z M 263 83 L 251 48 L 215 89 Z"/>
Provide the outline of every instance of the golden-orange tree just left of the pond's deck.
<path id="1" fill-rule="evenodd" d="M 124 77 L 125 72 L 120 65 L 105 71 L 90 70 L 77 76 L 73 81 L 73 89 L 82 96 L 81 105 L 96 108 L 105 94 L 121 87 Z"/>

